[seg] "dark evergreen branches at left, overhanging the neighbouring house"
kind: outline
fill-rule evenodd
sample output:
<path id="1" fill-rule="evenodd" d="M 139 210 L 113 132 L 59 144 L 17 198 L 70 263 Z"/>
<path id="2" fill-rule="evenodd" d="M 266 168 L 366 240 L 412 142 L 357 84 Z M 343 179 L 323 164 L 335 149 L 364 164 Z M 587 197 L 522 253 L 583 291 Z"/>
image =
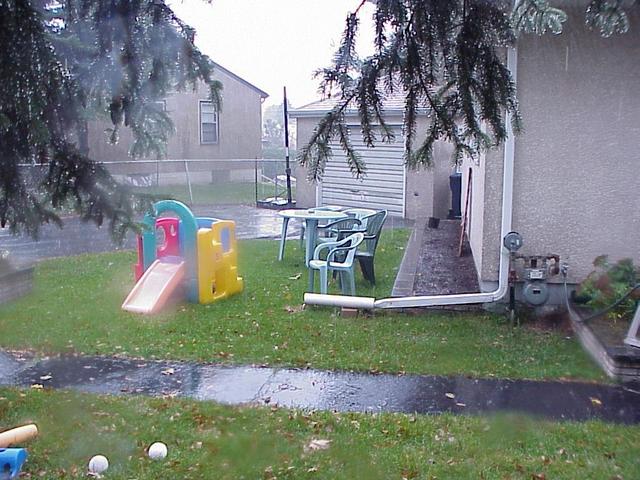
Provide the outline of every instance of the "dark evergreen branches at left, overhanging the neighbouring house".
<path id="1" fill-rule="evenodd" d="M 203 81 L 220 105 L 212 62 L 161 0 L 0 0 L 0 8 L 0 224 L 37 236 L 72 209 L 122 239 L 150 199 L 87 156 L 86 122 L 110 117 L 114 139 L 131 129 L 133 156 L 161 156 L 173 124 L 154 101 Z"/>

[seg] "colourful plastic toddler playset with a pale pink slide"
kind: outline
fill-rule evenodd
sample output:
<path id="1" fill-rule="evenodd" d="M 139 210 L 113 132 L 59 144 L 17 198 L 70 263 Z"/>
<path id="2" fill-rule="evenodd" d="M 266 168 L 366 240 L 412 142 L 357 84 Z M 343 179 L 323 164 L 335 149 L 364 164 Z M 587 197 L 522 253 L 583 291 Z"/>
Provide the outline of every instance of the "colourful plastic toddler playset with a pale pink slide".
<path id="1" fill-rule="evenodd" d="M 177 217 L 160 216 L 167 212 Z M 190 302 L 209 304 L 242 291 L 234 222 L 195 217 L 185 204 L 162 200 L 143 223 L 136 284 L 123 310 L 156 313 L 181 292 Z"/>

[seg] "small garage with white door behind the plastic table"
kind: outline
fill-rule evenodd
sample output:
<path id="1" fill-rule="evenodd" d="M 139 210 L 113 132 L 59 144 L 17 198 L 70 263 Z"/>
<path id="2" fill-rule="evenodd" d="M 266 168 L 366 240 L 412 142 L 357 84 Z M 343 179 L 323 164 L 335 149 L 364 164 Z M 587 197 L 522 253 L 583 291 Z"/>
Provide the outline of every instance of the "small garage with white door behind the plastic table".
<path id="1" fill-rule="evenodd" d="M 324 114 L 335 105 L 335 100 L 323 100 L 290 111 L 297 120 L 297 145 L 308 143 L 313 130 Z M 306 180 L 306 169 L 294 167 L 297 179 L 296 201 L 300 207 L 316 205 L 345 205 L 386 209 L 390 215 L 415 219 L 419 217 L 446 217 L 451 208 L 449 175 L 451 160 L 439 162 L 432 169 L 411 170 L 404 164 L 402 137 L 403 98 L 390 96 L 384 103 L 385 120 L 394 130 L 392 143 L 379 141 L 368 148 L 362 141 L 360 123 L 355 109 L 346 112 L 350 138 L 367 165 L 367 173 L 356 179 L 351 175 L 346 157 L 338 144 L 332 145 L 322 182 Z M 428 126 L 426 113 L 418 119 L 418 135 Z M 450 155 L 444 143 L 436 147 L 441 157 Z"/>

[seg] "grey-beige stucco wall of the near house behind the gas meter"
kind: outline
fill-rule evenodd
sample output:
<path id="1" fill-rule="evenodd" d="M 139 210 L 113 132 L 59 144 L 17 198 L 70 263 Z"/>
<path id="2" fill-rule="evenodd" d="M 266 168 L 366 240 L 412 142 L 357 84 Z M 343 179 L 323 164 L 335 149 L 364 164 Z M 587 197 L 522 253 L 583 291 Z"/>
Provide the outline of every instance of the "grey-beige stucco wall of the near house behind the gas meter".
<path id="1" fill-rule="evenodd" d="M 561 35 L 523 36 L 513 228 L 521 253 L 558 253 L 570 280 L 595 257 L 640 263 L 640 17 L 628 34 L 602 38 L 569 12 Z M 502 150 L 473 178 L 471 244 L 481 279 L 497 280 Z M 559 279 L 558 279 L 559 280 Z"/>

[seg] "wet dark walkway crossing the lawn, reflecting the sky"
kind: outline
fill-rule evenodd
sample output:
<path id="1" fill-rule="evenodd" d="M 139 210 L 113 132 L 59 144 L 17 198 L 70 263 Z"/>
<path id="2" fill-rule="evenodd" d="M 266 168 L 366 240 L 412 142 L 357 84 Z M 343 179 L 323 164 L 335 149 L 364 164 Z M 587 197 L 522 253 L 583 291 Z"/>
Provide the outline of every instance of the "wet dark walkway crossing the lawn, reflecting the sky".
<path id="1" fill-rule="evenodd" d="M 25 359 L 0 352 L 0 385 L 275 405 L 340 412 L 518 412 L 554 420 L 640 423 L 640 392 L 577 382 L 370 375 L 149 362 L 105 357 Z"/>

